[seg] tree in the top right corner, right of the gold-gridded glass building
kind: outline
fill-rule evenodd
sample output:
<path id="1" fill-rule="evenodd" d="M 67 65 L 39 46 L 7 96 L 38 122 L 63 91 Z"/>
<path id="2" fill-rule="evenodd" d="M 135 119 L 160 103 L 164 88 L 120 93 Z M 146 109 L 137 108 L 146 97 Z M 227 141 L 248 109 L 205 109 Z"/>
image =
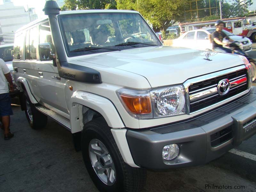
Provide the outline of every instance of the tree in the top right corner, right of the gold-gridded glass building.
<path id="1" fill-rule="evenodd" d="M 248 6 L 252 5 L 252 0 L 232 0 L 231 3 L 222 4 L 222 17 L 244 17 L 248 14 Z"/>

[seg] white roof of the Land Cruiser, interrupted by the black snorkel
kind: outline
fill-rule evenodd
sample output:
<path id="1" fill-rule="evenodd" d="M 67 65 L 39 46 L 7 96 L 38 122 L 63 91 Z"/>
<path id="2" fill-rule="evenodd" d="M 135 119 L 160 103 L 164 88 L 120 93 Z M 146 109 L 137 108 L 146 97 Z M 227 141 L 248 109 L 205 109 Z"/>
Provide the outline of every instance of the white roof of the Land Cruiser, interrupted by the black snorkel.
<path id="1" fill-rule="evenodd" d="M 65 14 L 77 14 L 77 13 L 139 13 L 137 11 L 130 11 L 130 10 L 112 10 L 112 9 L 94 9 L 94 10 L 74 10 L 74 11 L 61 11 L 60 15 Z M 44 15 L 42 18 L 32 21 L 31 23 L 28 23 L 27 25 L 19 28 L 15 33 L 24 30 L 26 28 L 29 28 L 30 26 L 35 25 L 36 23 L 42 22 L 43 20 L 46 20 L 48 18 L 48 15 Z"/>

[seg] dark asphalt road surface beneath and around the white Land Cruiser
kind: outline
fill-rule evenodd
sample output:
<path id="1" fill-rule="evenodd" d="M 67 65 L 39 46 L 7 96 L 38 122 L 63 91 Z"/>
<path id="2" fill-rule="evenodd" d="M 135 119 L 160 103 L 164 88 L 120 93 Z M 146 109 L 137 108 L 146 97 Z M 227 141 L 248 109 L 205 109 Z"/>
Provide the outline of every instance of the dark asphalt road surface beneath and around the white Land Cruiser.
<path id="1" fill-rule="evenodd" d="M 253 47 L 250 55 L 256 59 L 256 44 Z M 73 148 L 71 133 L 51 118 L 45 129 L 31 129 L 17 98 L 12 102 L 10 128 L 15 136 L 5 141 L 0 130 L 0 192 L 98 191 L 85 169 L 81 152 Z M 143 191 L 254 192 L 255 146 L 256 135 L 209 164 L 169 172 L 148 171 Z M 224 189 L 213 189 L 213 185 Z"/>

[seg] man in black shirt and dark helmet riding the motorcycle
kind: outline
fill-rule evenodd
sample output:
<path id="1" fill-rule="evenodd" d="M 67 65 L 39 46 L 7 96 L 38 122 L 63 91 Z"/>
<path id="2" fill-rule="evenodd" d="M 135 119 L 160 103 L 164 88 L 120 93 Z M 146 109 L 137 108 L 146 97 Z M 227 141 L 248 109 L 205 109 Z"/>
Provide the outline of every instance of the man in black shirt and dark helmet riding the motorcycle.
<path id="1" fill-rule="evenodd" d="M 228 49 L 224 46 L 228 46 L 227 43 L 223 43 L 223 38 L 226 37 L 230 42 L 233 42 L 231 38 L 229 38 L 222 29 L 224 28 L 224 22 L 222 20 L 217 20 L 215 22 L 216 31 L 212 33 L 212 50 L 216 52 L 224 52 L 224 53 L 232 53 L 231 49 Z"/>

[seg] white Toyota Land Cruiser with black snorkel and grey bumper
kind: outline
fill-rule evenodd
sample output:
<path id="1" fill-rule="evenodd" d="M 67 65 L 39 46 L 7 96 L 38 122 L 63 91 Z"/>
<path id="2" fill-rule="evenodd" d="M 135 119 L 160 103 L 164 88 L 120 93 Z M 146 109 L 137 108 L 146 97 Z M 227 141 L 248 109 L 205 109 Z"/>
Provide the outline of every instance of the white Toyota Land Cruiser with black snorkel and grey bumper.
<path id="1" fill-rule="evenodd" d="M 21 108 L 34 129 L 50 116 L 71 131 L 100 191 L 140 190 L 146 169 L 205 164 L 255 134 L 243 56 L 163 46 L 134 11 L 44 12 L 15 34 Z"/>

